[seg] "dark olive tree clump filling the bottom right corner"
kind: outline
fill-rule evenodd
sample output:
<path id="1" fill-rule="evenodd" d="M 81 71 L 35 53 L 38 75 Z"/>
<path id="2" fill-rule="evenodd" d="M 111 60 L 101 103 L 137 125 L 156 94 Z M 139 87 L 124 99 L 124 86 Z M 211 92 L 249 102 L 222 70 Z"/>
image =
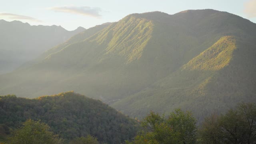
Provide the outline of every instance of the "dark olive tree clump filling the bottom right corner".
<path id="1" fill-rule="evenodd" d="M 206 118 L 198 140 L 202 144 L 255 144 L 256 104 L 238 104 L 225 115 Z"/>

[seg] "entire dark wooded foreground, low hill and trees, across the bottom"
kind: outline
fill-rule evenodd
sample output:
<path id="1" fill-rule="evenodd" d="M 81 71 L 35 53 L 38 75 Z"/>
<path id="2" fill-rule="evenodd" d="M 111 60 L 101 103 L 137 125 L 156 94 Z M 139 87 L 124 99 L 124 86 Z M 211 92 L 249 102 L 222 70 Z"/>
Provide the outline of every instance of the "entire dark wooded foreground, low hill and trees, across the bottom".
<path id="1" fill-rule="evenodd" d="M 151 111 L 141 121 L 74 92 L 0 96 L 2 144 L 255 144 L 256 104 L 198 122 L 189 111 Z"/>

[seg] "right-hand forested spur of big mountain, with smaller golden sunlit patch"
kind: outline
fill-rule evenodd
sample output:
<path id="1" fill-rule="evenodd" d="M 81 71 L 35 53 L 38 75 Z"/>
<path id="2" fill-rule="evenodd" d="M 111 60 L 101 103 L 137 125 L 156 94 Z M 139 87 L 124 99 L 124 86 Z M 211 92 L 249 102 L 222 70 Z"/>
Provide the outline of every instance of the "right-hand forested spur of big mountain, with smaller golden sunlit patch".
<path id="1" fill-rule="evenodd" d="M 255 102 L 255 52 L 253 43 L 224 36 L 170 76 L 113 106 L 132 116 L 150 110 L 168 113 L 180 107 L 200 119 L 237 102 Z"/>

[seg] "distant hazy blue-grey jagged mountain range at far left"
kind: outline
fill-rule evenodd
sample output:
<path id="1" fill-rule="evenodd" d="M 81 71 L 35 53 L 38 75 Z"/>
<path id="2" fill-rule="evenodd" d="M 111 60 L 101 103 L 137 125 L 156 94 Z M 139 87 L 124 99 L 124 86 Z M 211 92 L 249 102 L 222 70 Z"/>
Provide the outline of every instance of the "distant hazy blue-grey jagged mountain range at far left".
<path id="1" fill-rule="evenodd" d="M 37 58 L 45 50 L 83 32 L 78 27 L 68 31 L 61 26 L 30 26 L 14 20 L 0 20 L 0 74 L 11 72 L 24 62 Z"/>

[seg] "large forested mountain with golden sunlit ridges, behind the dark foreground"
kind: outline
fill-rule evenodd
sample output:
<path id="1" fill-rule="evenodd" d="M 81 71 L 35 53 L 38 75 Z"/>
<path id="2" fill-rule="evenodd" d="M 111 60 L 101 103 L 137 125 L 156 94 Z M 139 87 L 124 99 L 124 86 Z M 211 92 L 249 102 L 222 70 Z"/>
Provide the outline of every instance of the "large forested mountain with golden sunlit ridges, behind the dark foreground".
<path id="1" fill-rule="evenodd" d="M 256 24 L 228 12 L 130 14 L 1 75 L 0 94 L 74 90 L 138 118 L 182 108 L 202 120 L 255 102 L 255 39 Z"/>

